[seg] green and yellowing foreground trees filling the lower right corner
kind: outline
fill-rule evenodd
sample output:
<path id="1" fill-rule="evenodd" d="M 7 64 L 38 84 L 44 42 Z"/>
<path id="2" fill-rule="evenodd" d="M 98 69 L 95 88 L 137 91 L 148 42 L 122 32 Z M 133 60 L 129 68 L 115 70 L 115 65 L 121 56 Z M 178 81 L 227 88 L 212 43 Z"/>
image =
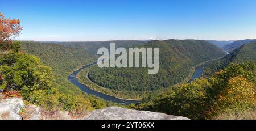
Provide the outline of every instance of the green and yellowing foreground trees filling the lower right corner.
<path id="1" fill-rule="evenodd" d="M 189 119 L 256 119 L 256 63 L 230 64 L 210 78 L 150 94 L 131 108 Z"/>

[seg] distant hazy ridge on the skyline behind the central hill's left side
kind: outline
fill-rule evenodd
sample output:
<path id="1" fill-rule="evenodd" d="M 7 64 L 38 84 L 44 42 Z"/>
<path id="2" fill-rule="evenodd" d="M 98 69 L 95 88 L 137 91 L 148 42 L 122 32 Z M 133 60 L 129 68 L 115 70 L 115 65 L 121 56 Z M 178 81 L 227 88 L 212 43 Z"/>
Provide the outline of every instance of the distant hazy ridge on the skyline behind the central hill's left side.
<path id="1" fill-rule="evenodd" d="M 84 48 L 90 54 L 97 54 L 101 47 L 110 48 L 110 43 L 115 43 L 115 47 L 129 48 L 134 45 L 144 44 L 145 41 L 139 40 L 113 40 L 113 41 L 91 41 L 91 42 L 55 42 L 56 44 L 65 45 L 72 48 Z"/>

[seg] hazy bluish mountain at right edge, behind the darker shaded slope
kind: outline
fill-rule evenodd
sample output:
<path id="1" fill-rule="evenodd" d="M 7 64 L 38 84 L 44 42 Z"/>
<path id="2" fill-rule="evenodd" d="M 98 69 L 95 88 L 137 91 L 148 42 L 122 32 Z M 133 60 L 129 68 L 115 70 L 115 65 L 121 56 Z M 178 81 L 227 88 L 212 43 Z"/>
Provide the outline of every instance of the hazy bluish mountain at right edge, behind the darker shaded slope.
<path id="1" fill-rule="evenodd" d="M 246 40 L 238 40 L 238 41 L 234 41 L 233 43 L 230 44 L 226 44 L 223 49 L 225 49 L 227 52 L 232 52 L 233 50 L 237 49 L 238 47 L 241 47 L 243 44 L 246 43 L 251 43 L 256 41 L 256 39 L 250 40 L 250 39 L 246 39 Z"/>

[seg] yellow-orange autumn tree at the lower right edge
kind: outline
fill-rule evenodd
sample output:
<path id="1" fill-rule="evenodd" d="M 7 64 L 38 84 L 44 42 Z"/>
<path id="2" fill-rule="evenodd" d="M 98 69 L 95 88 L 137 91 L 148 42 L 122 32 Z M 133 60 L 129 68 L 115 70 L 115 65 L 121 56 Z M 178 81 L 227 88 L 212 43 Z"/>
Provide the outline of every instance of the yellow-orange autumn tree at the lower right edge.
<path id="1" fill-rule="evenodd" d="M 228 85 L 218 96 L 215 105 L 222 112 L 245 110 L 256 107 L 255 85 L 247 82 L 244 77 L 234 77 L 229 79 Z"/>

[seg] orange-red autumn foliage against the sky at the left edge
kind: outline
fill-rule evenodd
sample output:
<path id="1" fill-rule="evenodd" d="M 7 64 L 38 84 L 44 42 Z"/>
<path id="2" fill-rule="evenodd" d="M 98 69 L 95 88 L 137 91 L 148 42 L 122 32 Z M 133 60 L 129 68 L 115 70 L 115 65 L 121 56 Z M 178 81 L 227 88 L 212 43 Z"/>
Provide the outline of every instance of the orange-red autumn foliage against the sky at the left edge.
<path id="1" fill-rule="evenodd" d="M 12 47 L 13 39 L 18 36 L 22 27 L 19 19 L 5 18 L 0 12 L 0 44 L 1 50 L 7 50 Z"/>

